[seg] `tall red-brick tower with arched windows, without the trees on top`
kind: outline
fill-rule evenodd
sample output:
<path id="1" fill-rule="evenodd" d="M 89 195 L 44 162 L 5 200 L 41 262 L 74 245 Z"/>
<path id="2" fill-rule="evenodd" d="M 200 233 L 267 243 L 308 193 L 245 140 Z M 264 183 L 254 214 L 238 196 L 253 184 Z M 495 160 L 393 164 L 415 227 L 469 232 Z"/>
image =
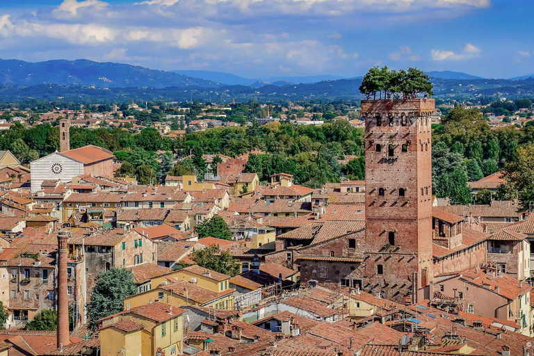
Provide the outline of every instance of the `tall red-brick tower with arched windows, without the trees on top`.
<path id="1" fill-rule="evenodd" d="M 365 260 L 362 287 L 383 298 L 428 298 L 432 279 L 434 99 L 362 101 Z"/>

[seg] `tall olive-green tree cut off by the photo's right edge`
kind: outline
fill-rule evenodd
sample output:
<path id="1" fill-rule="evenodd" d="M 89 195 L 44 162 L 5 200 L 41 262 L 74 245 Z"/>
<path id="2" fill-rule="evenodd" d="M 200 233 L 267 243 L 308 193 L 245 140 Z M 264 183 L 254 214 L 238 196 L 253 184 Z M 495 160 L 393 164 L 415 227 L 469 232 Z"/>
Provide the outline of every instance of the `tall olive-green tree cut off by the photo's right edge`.
<path id="1" fill-rule="evenodd" d="M 503 169 L 508 196 L 517 194 L 521 211 L 528 211 L 534 202 L 534 145 L 518 147 L 514 161 L 505 164 Z"/>

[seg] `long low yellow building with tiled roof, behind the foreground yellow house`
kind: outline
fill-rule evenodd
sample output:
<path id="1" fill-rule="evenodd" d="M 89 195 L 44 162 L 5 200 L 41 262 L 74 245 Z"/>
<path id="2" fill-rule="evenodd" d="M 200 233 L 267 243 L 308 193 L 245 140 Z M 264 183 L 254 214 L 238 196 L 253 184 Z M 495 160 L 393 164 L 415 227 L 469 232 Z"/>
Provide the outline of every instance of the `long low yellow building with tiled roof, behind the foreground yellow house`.
<path id="1" fill-rule="evenodd" d="M 124 309 L 160 301 L 175 307 L 200 305 L 201 307 L 234 310 L 234 291 L 235 289 L 211 291 L 197 284 L 170 277 L 168 282 L 157 288 L 126 298 Z"/>

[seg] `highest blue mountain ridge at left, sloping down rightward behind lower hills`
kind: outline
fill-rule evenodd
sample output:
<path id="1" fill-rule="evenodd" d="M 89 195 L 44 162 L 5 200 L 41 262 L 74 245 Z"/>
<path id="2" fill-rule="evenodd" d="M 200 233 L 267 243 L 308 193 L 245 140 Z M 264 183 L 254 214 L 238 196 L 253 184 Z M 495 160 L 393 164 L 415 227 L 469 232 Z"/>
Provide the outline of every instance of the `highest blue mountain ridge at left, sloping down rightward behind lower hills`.
<path id="1" fill-rule="evenodd" d="M 47 60 L 38 63 L 14 59 L 0 60 L 0 83 L 15 86 L 37 86 L 47 83 L 97 88 L 218 86 L 217 83 L 183 74 L 85 59 Z"/>

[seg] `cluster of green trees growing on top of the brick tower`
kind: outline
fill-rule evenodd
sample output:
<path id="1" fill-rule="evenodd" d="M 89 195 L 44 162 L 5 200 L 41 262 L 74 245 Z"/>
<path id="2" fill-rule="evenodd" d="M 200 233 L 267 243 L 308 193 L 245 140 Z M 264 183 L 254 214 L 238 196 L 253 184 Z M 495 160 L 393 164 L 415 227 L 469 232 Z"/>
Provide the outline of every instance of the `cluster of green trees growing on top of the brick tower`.
<path id="1" fill-rule="evenodd" d="M 362 79 L 359 91 L 367 99 L 417 99 L 421 94 L 433 95 L 430 76 L 416 68 L 389 70 L 373 67 Z"/>

